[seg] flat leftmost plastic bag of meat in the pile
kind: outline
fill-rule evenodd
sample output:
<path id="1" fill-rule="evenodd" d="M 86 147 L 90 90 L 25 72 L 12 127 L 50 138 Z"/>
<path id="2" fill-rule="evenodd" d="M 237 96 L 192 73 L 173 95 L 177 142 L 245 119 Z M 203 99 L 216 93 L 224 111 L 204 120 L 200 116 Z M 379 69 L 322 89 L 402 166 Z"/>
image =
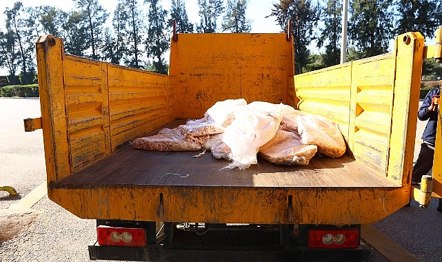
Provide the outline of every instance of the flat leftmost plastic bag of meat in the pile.
<path id="1" fill-rule="evenodd" d="M 197 151 L 201 145 L 186 141 L 182 128 L 163 128 L 150 137 L 140 137 L 130 143 L 134 148 L 151 151 Z"/>

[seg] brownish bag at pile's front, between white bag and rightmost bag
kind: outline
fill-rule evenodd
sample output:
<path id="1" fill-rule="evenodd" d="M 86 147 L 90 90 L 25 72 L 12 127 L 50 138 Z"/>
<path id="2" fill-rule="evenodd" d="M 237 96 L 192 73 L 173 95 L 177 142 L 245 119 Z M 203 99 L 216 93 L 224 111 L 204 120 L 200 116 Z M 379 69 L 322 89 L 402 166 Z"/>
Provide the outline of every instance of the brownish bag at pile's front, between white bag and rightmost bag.
<path id="1" fill-rule="evenodd" d="M 259 157 L 277 165 L 308 165 L 317 150 L 316 145 L 303 145 L 299 134 L 280 129 L 259 148 Z"/>

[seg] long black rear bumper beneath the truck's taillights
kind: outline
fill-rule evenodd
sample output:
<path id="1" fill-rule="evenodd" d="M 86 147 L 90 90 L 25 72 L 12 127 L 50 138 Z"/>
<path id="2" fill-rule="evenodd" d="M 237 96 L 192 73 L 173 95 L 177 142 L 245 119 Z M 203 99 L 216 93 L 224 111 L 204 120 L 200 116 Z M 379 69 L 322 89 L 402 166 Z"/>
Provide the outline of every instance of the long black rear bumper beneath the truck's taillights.
<path id="1" fill-rule="evenodd" d="M 317 250 L 306 248 L 272 250 L 204 250 L 164 248 L 150 245 L 148 248 L 89 245 L 91 260 L 125 261 L 363 261 L 369 250 Z"/>

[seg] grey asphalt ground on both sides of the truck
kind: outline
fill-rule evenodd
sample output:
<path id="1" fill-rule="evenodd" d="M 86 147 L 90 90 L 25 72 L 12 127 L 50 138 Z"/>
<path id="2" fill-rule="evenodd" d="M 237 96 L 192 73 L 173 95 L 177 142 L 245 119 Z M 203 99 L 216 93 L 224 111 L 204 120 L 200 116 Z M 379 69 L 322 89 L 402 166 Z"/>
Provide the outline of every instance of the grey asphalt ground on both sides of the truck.
<path id="1" fill-rule="evenodd" d="M 24 132 L 22 120 L 40 117 L 39 106 L 39 99 L 0 98 L 0 187 L 10 185 L 19 193 L 0 192 L 0 261 L 89 261 L 87 246 L 96 239 L 95 221 L 77 218 L 44 192 L 41 199 L 34 197 L 37 203 L 32 208 L 11 209 L 46 181 L 43 133 Z M 418 150 L 424 127 L 425 123 L 418 123 Z M 404 261 L 391 256 L 396 252 L 410 252 L 421 261 L 442 261 L 442 213 L 436 211 L 433 200 L 427 210 L 412 201 L 410 207 L 372 224 L 398 245 L 395 250 L 382 250 L 387 259 L 364 241 L 372 249 L 372 261 Z M 383 245 L 382 238 L 377 240 Z"/>

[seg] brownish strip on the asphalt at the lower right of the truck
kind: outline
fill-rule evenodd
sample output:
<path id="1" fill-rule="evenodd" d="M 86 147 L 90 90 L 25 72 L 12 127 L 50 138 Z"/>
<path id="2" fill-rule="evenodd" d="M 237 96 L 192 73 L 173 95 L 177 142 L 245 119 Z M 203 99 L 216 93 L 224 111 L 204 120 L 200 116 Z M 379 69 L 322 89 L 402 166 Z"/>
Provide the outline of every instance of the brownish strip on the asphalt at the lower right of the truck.
<path id="1" fill-rule="evenodd" d="M 376 230 L 372 225 L 361 225 L 361 238 L 391 262 L 421 262 L 414 254 L 402 248 L 401 245 Z"/>

